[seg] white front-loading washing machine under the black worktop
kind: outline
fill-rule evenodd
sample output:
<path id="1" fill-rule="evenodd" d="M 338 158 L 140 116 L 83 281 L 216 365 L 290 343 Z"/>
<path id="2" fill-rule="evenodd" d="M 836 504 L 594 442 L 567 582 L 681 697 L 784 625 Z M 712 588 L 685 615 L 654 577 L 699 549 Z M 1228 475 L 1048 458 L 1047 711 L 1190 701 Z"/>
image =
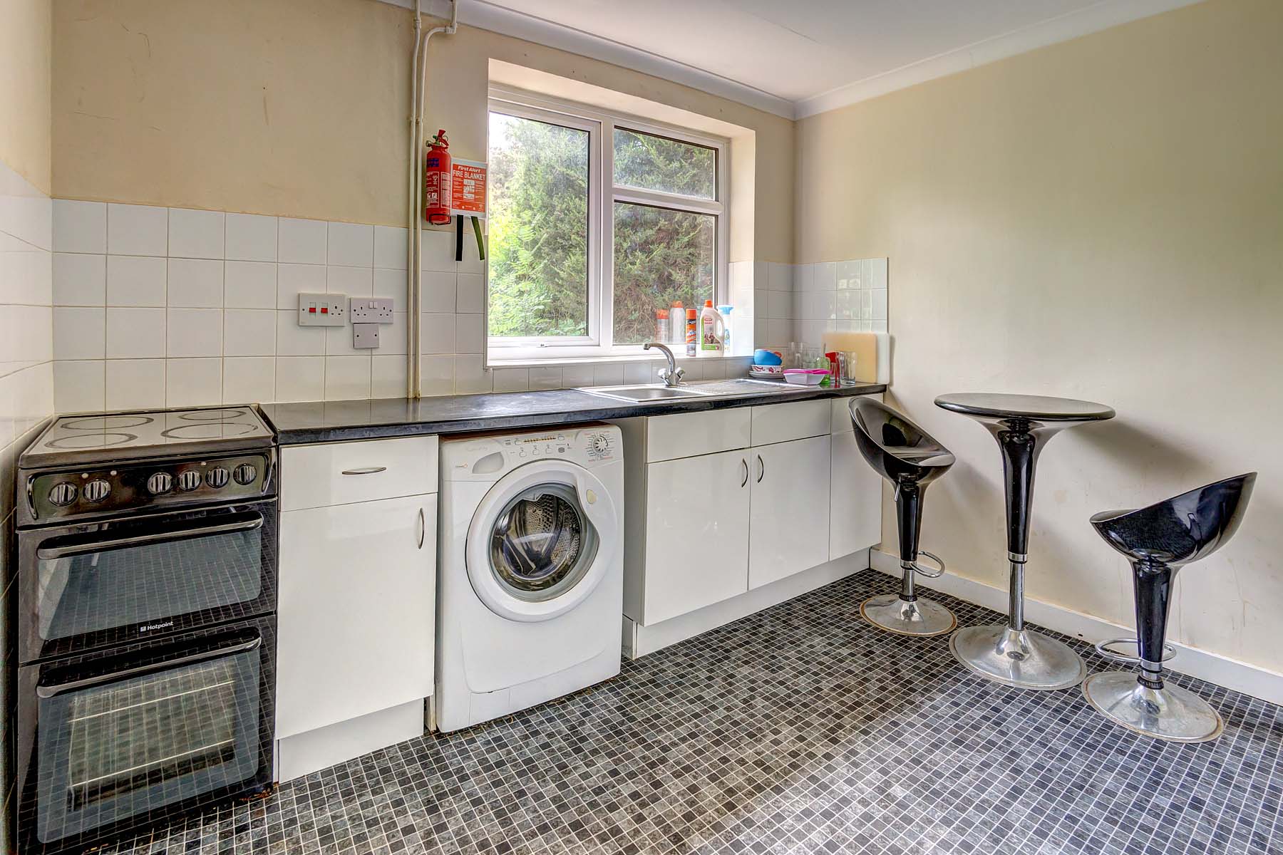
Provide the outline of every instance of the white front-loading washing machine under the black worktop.
<path id="1" fill-rule="evenodd" d="M 440 508 L 439 729 L 620 673 L 617 427 L 443 438 Z"/>

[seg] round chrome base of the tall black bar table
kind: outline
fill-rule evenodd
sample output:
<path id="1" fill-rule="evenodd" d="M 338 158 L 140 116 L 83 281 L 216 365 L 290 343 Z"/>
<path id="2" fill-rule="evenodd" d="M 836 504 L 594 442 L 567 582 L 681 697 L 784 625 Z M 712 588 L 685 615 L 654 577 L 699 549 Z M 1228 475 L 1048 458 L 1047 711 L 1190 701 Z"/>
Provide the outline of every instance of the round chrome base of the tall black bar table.
<path id="1" fill-rule="evenodd" d="M 976 674 L 1016 688 L 1070 688 L 1087 676 L 1065 642 L 1007 624 L 958 629 L 949 636 L 949 652 Z"/>

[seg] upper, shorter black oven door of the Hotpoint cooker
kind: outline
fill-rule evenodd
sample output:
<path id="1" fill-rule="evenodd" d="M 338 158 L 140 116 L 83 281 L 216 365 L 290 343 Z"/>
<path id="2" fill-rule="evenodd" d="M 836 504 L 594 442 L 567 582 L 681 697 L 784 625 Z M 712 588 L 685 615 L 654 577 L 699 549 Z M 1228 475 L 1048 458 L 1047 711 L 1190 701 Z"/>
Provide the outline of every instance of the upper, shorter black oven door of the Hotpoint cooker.
<path id="1" fill-rule="evenodd" d="M 24 663 L 276 610 L 276 500 L 18 533 Z"/>

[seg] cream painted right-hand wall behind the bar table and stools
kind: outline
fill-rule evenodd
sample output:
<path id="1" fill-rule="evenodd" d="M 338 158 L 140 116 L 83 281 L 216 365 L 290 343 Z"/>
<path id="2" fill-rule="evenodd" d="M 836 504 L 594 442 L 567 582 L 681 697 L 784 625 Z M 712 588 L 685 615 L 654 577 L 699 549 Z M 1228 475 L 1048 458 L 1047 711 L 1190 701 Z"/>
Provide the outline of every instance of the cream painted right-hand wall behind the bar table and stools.
<path id="1" fill-rule="evenodd" d="M 1283 4 L 1210 0 L 798 123 L 799 261 L 890 258 L 893 403 L 958 464 L 922 544 L 1006 583 L 1001 463 L 943 392 L 1066 395 L 1114 422 L 1042 458 L 1029 592 L 1130 623 L 1088 517 L 1259 469 L 1183 572 L 1177 640 L 1283 670 Z M 887 496 L 883 533 L 894 542 Z"/>

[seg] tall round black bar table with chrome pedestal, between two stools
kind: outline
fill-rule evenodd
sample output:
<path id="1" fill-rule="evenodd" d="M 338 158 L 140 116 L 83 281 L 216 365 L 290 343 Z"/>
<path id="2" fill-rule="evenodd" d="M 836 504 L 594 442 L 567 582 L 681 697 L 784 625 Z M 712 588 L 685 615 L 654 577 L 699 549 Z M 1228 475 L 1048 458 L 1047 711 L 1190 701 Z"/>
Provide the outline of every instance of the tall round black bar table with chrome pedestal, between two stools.
<path id="1" fill-rule="evenodd" d="M 1025 628 L 1025 563 L 1038 455 L 1066 428 L 1114 418 L 1114 409 L 1092 401 L 1043 395 L 942 395 L 935 405 L 967 415 L 989 431 L 1002 450 L 1007 491 L 1007 623 L 958 629 L 949 638 L 953 656 L 989 679 L 1017 688 L 1078 686 L 1087 665 L 1074 649 Z"/>

